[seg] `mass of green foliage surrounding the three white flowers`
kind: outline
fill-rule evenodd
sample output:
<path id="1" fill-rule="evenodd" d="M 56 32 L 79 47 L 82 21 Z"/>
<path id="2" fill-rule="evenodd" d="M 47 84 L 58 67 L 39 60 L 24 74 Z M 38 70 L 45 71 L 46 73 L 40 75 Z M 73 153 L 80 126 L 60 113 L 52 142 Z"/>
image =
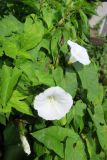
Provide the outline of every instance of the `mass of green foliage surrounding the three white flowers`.
<path id="1" fill-rule="evenodd" d="M 87 0 L 0 4 L 0 156 L 4 154 L 4 160 L 107 158 L 107 45 L 100 48 L 89 42 L 88 18 L 96 5 Z M 67 64 L 69 39 L 87 47 L 90 65 Z M 72 108 L 60 121 L 41 119 L 33 106 L 34 97 L 52 86 L 73 97 Z M 29 156 L 21 132 L 28 139 Z"/>

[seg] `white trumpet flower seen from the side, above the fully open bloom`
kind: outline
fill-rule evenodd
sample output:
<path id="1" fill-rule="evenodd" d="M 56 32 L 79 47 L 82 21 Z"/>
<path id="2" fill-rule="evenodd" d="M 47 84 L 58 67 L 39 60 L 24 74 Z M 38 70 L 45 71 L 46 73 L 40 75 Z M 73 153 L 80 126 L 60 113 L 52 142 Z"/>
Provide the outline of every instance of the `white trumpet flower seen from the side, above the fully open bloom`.
<path id="1" fill-rule="evenodd" d="M 83 65 L 88 65 L 90 63 L 87 50 L 84 47 L 72 42 L 71 40 L 68 40 L 67 44 L 69 45 L 71 52 L 68 63 L 74 63 L 76 61 L 82 63 Z"/>

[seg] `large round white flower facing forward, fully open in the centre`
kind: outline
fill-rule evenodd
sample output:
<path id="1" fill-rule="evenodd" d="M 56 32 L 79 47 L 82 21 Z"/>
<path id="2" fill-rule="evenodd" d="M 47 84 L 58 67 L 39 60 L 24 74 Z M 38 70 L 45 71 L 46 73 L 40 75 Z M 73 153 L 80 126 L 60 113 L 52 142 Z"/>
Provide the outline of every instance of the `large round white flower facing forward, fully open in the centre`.
<path id="1" fill-rule="evenodd" d="M 61 87 L 50 87 L 34 99 L 34 108 L 45 120 L 59 120 L 69 112 L 72 96 Z"/>

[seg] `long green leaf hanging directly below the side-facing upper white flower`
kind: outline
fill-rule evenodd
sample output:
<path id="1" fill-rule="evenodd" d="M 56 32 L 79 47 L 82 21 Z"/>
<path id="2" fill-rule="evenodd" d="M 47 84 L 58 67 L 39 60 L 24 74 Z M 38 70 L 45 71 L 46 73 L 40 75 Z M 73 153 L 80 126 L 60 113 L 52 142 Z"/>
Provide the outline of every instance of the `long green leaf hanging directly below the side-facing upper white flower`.
<path id="1" fill-rule="evenodd" d="M 79 74 L 82 86 L 87 90 L 87 98 L 95 105 L 101 104 L 103 100 L 103 87 L 98 82 L 98 70 L 95 64 L 90 64 L 82 69 L 75 68 Z"/>

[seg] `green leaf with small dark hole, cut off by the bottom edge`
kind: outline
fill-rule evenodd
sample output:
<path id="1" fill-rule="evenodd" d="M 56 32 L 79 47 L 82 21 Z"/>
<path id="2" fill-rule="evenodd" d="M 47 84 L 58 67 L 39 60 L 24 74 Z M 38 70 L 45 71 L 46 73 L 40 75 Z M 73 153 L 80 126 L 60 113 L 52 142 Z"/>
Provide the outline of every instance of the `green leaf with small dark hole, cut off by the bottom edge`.
<path id="1" fill-rule="evenodd" d="M 65 160 L 87 160 L 85 146 L 80 138 L 77 141 L 71 137 L 67 138 Z"/>

